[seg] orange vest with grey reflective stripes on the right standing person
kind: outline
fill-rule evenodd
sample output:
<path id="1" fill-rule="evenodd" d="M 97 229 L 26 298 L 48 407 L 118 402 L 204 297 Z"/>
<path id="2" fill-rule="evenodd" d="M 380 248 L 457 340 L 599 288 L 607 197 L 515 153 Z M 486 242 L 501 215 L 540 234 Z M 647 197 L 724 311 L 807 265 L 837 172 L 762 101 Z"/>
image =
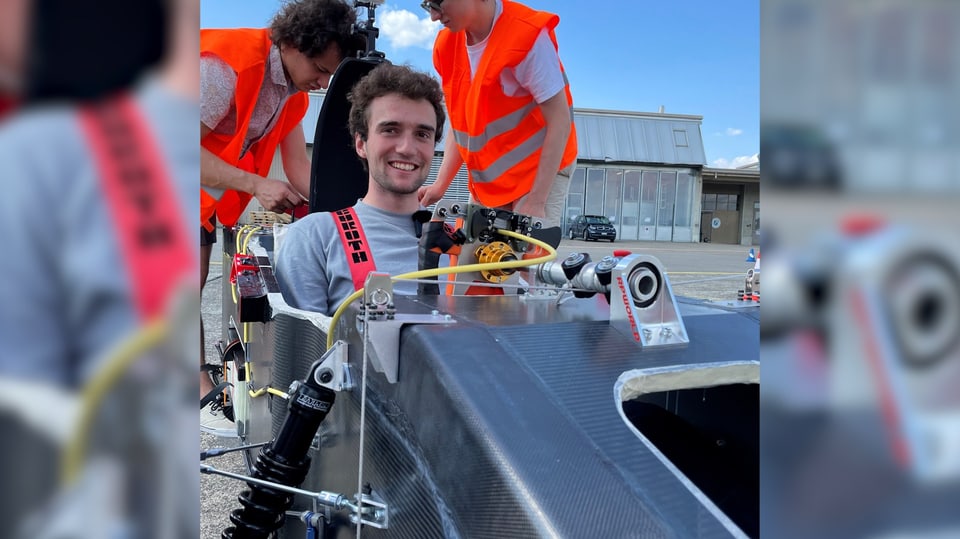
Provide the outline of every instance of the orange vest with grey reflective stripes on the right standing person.
<path id="1" fill-rule="evenodd" d="M 470 193 L 485 206 L 509 204 L 533 187 L 547 133 L 546 120 L 532 95 L 504 94 L 500 73 L 523 61 L 544 28 L 557 48 L 553 30 L 559 22 L 560 17 L 553 13 L 503 0 L 503 13 L 490 33 L 472 82 L 466 33 L 444 28 L 437 35 L 433 65 L 443 82 L 450 127 L 467 165 Z M 564 92 L 567 105 L 572 107 L 569 83 Z M 577 158 L 572 111 L 570 117 L 561 170 Z"/>

